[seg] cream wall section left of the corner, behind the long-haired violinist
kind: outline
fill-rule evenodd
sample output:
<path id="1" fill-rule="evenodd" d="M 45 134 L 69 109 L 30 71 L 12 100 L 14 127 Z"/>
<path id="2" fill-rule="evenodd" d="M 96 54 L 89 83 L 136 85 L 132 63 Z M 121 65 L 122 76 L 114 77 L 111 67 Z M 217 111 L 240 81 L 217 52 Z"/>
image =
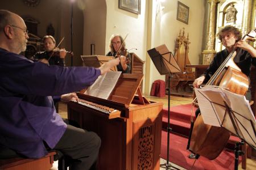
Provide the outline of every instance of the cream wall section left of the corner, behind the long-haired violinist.
<path id="1" fill-rule="evenodd" d="M 125 40 L 129 52 L 134 52 L 143 61 L 146 60 L 147 44 L 147 3 L 141 0 L 141 14 L 135 14 L 118 8 L 117 0 L 106 0 L 106 39 L 105 53 L 109 52 L 109 39 L 113 34 L 119 34 Z M 133 48 L 137 48 L 135 50 Z M 131 50 L 130 50 L 131 49 Z M 145 74 L 145 67 L 144 67 Z M 143 78 L 144 79 L 144 78 Z M 145 86 L 143 80 L 143 87 Z"/>

